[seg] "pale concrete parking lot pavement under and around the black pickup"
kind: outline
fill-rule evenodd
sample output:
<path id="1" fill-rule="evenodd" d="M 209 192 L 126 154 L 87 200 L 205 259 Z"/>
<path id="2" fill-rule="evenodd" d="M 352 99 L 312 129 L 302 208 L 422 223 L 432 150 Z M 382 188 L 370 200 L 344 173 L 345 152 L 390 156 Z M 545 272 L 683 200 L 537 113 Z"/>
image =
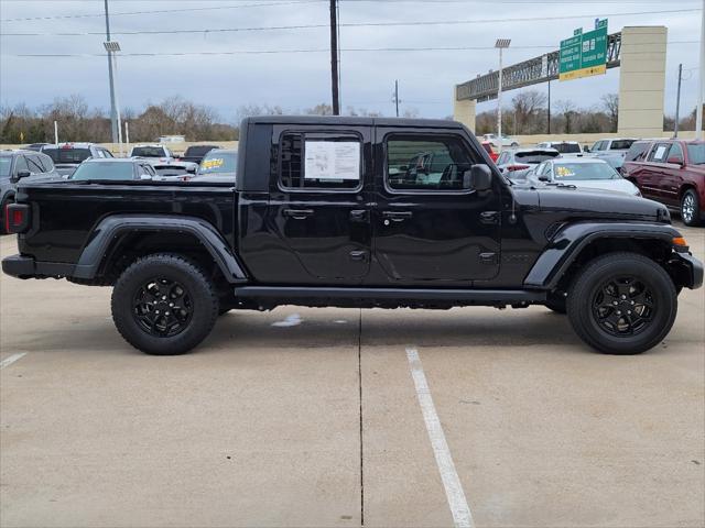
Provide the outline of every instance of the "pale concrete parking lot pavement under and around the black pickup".
<path id="1" fill-rule="evenodd" d="M 109 296 L 0 277 L 3 527 L 705 525 L 703 289 L 623 358 L 543 307 L 230 312 L 153 358 Z"/>

